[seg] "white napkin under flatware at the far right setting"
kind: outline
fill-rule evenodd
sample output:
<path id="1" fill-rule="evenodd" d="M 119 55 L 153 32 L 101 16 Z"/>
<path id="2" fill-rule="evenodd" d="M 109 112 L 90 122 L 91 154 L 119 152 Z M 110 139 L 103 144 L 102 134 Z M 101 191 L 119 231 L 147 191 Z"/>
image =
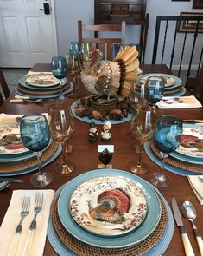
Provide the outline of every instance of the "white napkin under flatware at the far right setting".
<path id="1" fill-rule="evenodd" d="M 156 106 L 161 109 L 166 108 L 201 108 L 201 103 L 193 96 L 183 97 L 163 97 Z"/>

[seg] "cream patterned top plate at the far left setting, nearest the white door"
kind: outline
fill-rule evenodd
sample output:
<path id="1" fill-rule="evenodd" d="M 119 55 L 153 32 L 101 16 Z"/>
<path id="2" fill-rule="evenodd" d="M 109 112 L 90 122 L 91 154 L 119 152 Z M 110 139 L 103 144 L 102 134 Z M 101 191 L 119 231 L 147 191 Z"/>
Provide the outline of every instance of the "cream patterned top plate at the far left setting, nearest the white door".
<path id="1" fill-rule="evenodd" d="M 51 74 L 39 74 L 39 75 L 28 75 L 26 82 L 36 87 L 50 87 L 60 83 L 59 79 L 55 78 Z"/>

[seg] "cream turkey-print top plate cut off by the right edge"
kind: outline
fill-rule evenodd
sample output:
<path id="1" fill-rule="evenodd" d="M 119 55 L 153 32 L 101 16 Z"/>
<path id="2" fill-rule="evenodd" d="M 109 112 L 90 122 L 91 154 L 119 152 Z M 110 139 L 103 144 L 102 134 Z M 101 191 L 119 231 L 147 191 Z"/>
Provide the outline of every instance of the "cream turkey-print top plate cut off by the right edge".
<path id="1" fill-rule="evenodd" d="M 181 145 L 175 150 L 188 157 L 203 158 L 203 128 L 198 125 L 187 125 L 183 128 Z"/>

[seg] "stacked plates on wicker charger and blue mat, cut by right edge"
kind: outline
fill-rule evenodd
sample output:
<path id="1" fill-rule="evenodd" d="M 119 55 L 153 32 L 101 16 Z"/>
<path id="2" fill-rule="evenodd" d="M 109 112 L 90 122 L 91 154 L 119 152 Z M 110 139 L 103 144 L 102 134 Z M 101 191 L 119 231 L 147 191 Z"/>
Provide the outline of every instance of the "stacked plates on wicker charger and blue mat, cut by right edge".
<path id="1" fill-rule="evenodd" d="M 161 156 L 153 143 L 145 143 L 146 153 L 158 165 Z M 169 154 L 165 168 L 174 174 L 203 174 L 203 127 L 184 124 L 181 146 Z"/>

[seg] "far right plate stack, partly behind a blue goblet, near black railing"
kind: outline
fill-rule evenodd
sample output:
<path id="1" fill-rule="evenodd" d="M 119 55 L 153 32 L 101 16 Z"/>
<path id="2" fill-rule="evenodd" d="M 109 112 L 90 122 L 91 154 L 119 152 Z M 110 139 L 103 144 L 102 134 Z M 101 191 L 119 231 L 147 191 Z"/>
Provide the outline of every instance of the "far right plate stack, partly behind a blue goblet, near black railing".
<path id="1" fill-rule="evenodd" d="M 184 86 L 181 85 L 182 81 L 179 77 L 174 75 L 168 75 L 168 74 L 159 74 L 159 73 L 150 73 L 145 75 L 139 75 L 136 79 L 136 84 L 140 86 L 141 83 L 144 83 L 147 81 L 149 76 L 153 75 L 160 75 L 163 76 L 166 83 L 165 83 L 165 91 L 164 96 L 181 96 L 186 93 L 186 89 Z"/>

